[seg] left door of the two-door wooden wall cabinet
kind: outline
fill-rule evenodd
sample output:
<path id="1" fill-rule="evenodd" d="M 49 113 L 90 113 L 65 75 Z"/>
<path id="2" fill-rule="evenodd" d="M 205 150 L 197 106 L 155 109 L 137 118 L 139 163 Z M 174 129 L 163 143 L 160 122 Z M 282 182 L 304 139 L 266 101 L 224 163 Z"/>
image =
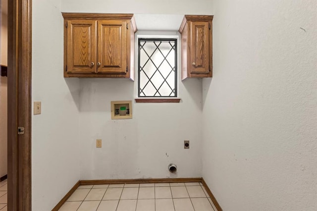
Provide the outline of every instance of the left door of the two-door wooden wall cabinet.
<path id="1" fill-rule="evenodd" d="M 67 21 L 67 73 L 97 72 L 97 21 Z"/>

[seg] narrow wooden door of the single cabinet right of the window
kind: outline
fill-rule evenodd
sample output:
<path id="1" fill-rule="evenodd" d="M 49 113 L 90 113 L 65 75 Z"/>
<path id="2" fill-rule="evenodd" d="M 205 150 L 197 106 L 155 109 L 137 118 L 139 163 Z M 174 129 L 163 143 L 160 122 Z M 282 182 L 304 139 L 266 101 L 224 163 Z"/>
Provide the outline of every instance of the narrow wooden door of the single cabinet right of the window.
<path id="1" fill-rule="evenodd" d="M 190 33 L 190 73 L 209 73 L 209 22 L 191 21 Z"/>

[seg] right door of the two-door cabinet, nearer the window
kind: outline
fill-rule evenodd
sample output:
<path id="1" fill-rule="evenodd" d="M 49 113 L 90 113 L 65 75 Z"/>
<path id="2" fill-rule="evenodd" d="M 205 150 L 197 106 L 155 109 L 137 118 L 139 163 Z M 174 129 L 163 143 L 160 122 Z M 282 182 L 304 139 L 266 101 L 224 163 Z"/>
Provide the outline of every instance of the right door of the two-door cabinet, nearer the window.
<path id="1" fill-rule="evenodd" d="M 98 73 L 126 74 L 127 21 L 98 21 Z"/>

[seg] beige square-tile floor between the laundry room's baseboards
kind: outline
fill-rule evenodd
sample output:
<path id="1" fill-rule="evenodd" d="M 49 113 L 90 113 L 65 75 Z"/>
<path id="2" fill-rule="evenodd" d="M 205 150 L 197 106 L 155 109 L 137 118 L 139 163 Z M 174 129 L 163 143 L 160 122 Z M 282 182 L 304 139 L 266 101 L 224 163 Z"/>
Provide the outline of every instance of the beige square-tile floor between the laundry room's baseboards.
<path id="1" fill-rule="evenodd" d="M 188 182 L 79 186 L 59 211 L 217 210 L 202 183 Z"/>

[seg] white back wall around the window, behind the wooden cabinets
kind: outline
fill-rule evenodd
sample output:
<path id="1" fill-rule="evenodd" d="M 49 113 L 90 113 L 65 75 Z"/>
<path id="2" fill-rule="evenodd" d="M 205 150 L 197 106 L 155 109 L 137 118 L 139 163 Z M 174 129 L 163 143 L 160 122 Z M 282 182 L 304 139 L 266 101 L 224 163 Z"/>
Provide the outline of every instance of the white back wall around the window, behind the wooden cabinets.
<path id="1" fill-rule="evenodd" d="M 174 0 L 168 5 L 148 0 L 120 3 L 63 0 L 62 11 L 147 14 L 212 11 L 211 0 Z M 136 85 L 137 80 L 133 83 L 127 79 L 80 79 L 81 179 L 201 177 L 202 80 L 179 82 L 180 104 L 133 103 L 133 119 L 111 120 L 110 102 L 134 102 Z M 96 149 L 96 139 L 103 140 L 102 149 Z M 184 150 L 184 140 L 190 140 L 189 150 Z M 170 162 L 177 164 L 177 175 L 169 173 Z"/>

